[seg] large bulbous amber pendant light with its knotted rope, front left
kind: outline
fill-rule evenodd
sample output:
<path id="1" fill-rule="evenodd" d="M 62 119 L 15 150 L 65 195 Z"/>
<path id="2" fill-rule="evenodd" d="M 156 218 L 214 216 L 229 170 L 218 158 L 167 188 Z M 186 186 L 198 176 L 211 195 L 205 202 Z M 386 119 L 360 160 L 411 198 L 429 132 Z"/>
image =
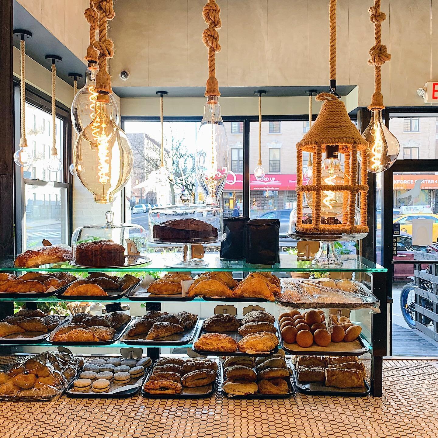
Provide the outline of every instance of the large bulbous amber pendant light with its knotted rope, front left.
<path id="1" fill-rule="evenodd" d="M 73 149 L 73 164 L 79 180 L 92 192 L 95 202 L 113 202 L 114 194 L 127 183 L 132 173 L 133 153 L 124 131 L 113 117 L 110 95 L 111 76 L 107 58 L 113 57 L 113 41 L 108 38 L 108 20 L 114 18 L 112 0 L 96 0 L 99 12 L 99 73 L 96 75 L 94 118 L 79 135 Z M 79 93 L 78 93 L 79 94 Z"/>

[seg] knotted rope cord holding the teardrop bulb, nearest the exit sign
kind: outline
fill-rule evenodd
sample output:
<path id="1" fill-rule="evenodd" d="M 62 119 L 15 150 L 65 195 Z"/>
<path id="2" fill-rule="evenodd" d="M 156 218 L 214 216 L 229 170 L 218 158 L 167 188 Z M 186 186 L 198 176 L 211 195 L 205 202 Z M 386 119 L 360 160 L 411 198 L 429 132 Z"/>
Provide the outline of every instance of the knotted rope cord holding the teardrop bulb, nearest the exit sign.
<path id="1" fill-rule="evenodd" d="M 391 60 L 391 55 L 387 47 L 381 43 L 381 23 L 386 20 L 386 15 L 380 11 L 381 0 L 374 0 L 374 6 L 371 6 L 370 21 L 374 23 L 374 46 L 371 47 L 368 60 L 369 65 L 374 65 L 374 94 L 368 109 L 384 109 L 383 95 L 381 94 L 381 66 L 386 61 Z"/>

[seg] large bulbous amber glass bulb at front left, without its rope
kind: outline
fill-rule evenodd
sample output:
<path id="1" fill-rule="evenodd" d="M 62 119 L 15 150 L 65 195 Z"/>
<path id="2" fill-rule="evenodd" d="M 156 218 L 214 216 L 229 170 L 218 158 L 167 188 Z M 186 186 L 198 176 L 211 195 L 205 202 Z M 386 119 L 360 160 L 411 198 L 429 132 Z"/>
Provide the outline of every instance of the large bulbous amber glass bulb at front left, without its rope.
<path id="1" fill-rule="evenodd" d="M 99 93 L 95 117 L 78 137 L 73 164 L 79 180 L 99 204 L 113 201 L 131 177 L 133 154 L 124 131 L 113 119 L 108 94 Z"/>

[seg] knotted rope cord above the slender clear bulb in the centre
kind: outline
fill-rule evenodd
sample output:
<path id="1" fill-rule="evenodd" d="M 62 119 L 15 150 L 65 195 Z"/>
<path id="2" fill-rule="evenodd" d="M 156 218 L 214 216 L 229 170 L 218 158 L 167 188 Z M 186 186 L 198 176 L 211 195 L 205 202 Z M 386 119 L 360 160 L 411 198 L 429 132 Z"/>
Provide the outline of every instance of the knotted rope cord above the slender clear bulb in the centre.
<path id="1" fill-rule="evenodd" d="M 202 33 L 202 41 L 208 48 L 208 79 L 205 86 L 205 97 L 220 96 L 219 84 L 216 79 L 216 64 L 215 53 L 219 52 L 221 47 L 219 44 L 219 33 L 216 29 L 222 26 L 219 18 L 220 7 L 215 0 L 208 0 L 202 9 L 202 16 L 208 28 Z"/>

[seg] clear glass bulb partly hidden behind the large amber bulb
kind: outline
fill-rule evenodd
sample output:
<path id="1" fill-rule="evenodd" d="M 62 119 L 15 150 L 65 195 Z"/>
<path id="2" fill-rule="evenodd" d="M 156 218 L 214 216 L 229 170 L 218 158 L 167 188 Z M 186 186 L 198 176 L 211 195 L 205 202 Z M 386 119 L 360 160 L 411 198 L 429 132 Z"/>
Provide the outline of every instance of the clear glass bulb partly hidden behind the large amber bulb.
<path id="1" fill-rule="evenodd" d="M 94 91 L 96 85 L 96 74 L 99 68 L 93 62 L 88 63 L 85 73 L 85 85 L 76 93 L 71 104 L 71 120 L 73 121 L 74 130 L 81 134 L 83 129 L 88 126 L 94 119 L 95 102 L 97 93 Z M 113 120 L 119 124 L 119 109 L 113 95 L 109 95 L 109 101 L 113 105 Z"/>

